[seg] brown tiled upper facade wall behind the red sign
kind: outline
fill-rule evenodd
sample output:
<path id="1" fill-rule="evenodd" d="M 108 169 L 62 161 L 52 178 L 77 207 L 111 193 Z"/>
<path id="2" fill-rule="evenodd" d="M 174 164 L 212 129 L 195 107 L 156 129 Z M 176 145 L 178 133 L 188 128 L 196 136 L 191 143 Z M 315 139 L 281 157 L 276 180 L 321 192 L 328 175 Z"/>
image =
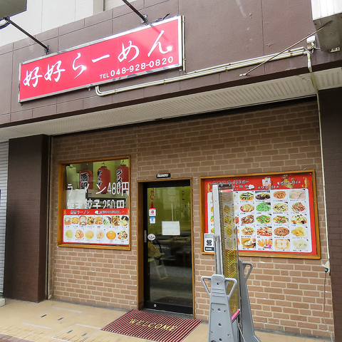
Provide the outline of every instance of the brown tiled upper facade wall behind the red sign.
<path id="1" fill-rule="evenodd" d="M 166 14 L 170 14 L 170 17 L 179 14 L 184 16 L 186 73 L 278 53 L 315 30 L 310 1 L 287 0 L 286 6 L 279 4 L 280 1 L 274 0 L 134 1 L 134 6 L 142 14 L 147 14 L 150 22 Z M 39 33 L 36 38 L 50 46 L 50 53 L 56 53 L 140 25 L 140 18 L 123 4 L 95 16 Z M 305 46 L 303 43 L 298 44 L 303 45 Z M 297 56 L 266 63 L 244 78 L 239 75 L 249 71 L 250 66 L 102 98 L 96 95 L 94 87 L 91 87 L 90 90 L 84 88 L 19 104 L 19 63 L 42 56 L 43 48 L 30 38 L 0 46 L 0 125 L 14 125 L 28 120 L 38 121 L 44 117 L 78 115 L 123 106 L 130 101 L 140 103 L 156 98 L 169 98 L 176 94 L 186 95 L 307 72 L 306 56 Z M 326 63 L 330 63 L 331 67 L 337 67 L 341 66 L 342 51 L 331 54 L 316 50 L 312 58 L 316 68 L 325 68 Z M 183 71 L 177 68 L 149 73 L 103 85 L 101 90 L 132 86 L 182 74 Z"/>

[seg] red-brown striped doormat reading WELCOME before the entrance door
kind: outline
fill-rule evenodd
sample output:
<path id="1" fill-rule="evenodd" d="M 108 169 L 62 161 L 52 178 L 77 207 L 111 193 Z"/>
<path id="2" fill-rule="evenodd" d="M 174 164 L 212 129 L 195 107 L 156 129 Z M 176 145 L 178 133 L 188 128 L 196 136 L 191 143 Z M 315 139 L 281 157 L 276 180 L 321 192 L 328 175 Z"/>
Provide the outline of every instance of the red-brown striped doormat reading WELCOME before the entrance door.
<path id="1" fill-rule="evenodd" d="M 157 342 L 180 342 L 201 322 L 198 319 L 131 310 L 101 330 Z"/>

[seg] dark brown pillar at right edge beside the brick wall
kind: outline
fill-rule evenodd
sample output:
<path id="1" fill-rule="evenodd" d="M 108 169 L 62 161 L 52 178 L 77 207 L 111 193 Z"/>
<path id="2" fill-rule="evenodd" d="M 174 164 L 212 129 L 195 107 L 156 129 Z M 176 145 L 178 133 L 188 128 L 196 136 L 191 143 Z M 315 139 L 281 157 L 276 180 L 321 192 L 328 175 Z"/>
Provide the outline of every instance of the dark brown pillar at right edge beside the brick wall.
<path id="1" fill-rule="evenodd" d="M 342 341 L 342 88 L 323 90 L 321 126 L 336 341 Z"/>

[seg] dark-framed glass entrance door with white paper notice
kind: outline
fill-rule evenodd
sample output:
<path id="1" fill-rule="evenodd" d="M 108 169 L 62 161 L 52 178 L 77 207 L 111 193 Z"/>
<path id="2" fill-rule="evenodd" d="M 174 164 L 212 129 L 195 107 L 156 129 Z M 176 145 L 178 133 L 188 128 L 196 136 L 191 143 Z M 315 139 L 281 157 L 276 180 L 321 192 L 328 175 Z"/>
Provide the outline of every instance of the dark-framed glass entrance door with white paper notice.
<path id="1" fill-rule="evenodd" d="M 192 314 L 190 181 L 144 187 L 145 308 Z"/>

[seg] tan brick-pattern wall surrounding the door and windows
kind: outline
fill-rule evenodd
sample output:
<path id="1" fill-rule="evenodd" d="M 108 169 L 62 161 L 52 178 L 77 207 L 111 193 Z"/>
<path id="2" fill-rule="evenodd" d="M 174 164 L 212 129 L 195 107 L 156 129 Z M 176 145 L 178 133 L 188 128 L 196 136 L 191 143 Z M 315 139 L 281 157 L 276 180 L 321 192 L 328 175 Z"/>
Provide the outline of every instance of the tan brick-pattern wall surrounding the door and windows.
<path id="1" fill-rule="evenodd" d="M 58 162 L 120 155 L 131 157 L 131 251 L 56 247 Z M 327 252 L 316 102 L 54 138 L 51 296 L 121 309 L 137 307 L 137 181 L 170 172 L 172 178 L 192 178 L 195 314 L 207 319 L 209 299 L 200 277 L 212 275 L 214 257 L 201 254 L 199 177 L 305 169 L 316 170 L 322 259 L 242 259 L 254 264 L 249 296 L 257 328 L 328 336 L 323 319 Z M 326 297 L 325 321 L 333 331 L 330 279 Z"/>

